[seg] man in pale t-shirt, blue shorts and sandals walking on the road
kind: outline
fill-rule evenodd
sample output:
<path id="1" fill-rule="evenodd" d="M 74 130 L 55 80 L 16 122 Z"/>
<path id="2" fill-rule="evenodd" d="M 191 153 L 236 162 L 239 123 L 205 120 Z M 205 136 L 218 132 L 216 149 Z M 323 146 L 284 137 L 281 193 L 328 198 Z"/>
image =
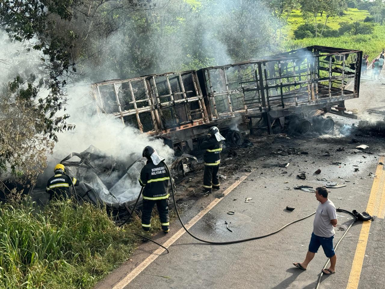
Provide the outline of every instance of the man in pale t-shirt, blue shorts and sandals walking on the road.
<path id="1" fill-rule="evenodd" d="M 318 187 L 315 191 L 315 197 L 320 204 L 318 205 L 313 222 L 313 233 L 311 233 L 311 239 L 309 244 L 309 250 L 306 254 L 305 261 L 302 263 L 294 262 L 295 267 L 306 270 L 310 261 L 314 258 L 315 253 L 322 246 L 323 252 L 326 257 L 330 258 L 330 267 L 322 269 L 323 274 L 334 274 L 336 265 L 336 254 L 333 248 L 334 227 L 337 226 L 337 212 L 336 208 L 328 200 L 328 190 L 325 187 Z"/>

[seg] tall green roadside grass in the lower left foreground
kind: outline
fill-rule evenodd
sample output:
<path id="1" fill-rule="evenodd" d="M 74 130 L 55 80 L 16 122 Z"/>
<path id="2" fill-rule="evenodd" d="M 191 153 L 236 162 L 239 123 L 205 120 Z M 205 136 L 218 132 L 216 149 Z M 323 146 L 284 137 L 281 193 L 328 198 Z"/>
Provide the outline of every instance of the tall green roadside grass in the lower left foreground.
<path id="1" fill-rule="evenodd" d="M 136 247 L 105 210 L 71 200 L 39 211 L 31 202 L 0 206 L 0 288 L 90 288 Z"/>

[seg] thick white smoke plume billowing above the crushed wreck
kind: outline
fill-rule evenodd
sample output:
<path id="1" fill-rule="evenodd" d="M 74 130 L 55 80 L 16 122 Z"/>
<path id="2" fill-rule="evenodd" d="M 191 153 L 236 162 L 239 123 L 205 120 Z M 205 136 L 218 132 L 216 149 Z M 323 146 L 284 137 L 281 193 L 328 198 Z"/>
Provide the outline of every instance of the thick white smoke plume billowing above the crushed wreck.
<path id="1" fill-rule="evenodd" d="M 109 114 L 96 113 L 96 102 L 90 97 L 90 84 L 76 84 L 68 89 L 67 113 L 69 123 L 75 129 L 58 135 L 54 155 L 64 158 L 72 152 L 80 153 L 90 145 L 106 155 L 121 161 L 134 161 L 142 156 L 143 148 L 151 145 L 158 154 L 170 160 L 173 150 L 164 145 L 162 139 L 154 139 Z"/>

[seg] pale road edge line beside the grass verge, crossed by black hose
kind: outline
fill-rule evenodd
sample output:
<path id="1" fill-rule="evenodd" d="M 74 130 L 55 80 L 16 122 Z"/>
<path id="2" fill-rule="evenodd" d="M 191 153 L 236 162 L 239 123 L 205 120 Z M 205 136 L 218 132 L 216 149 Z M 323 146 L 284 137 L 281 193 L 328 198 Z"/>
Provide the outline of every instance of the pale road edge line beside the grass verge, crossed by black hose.
<path id="1" fill-rule="evenodd" d="M 234 188 L 236 188 L 242 181 L 244 181 L 251 173 L 247 173 L 246 175 L 242 176 L 237 180 L 233 185 L 228 187 L 224 192 L 223 195 L 228 195 Z M 188 223 L 185 224 L 187 229 L 190 229 L 196 222 L 198 222 L 206 213 L 209 212 L 216 204 L 218 204 L 222 198 L 218 199 L 216 198 L 213 200 L 213 202 L 209 203 L 209 205 L 204 208 L 201 212 L 198 213 L 194 218 L 192 218 Z M 163 246 L 168 248 L 176 240 L 178 240 L 186 231 L 182 228 L 176 234 L 174 234 L 170 239 L 168 239 Z M 138 276 L 148 265 L 150 265 L 159 255 L 161 255 L 164 251 L 166 251 L 163 248 L 159 248 L 156 251 L 154 251 L 149 257 L 147 257 L 146 260 L 144 260 L 141 264 L 139 264 L 134 270 L 132 270 L 126 277 L 124 277 L 121 281 L 119 281 L 112 289 L 123 289 L 126 287 L 136 276 Z"/>

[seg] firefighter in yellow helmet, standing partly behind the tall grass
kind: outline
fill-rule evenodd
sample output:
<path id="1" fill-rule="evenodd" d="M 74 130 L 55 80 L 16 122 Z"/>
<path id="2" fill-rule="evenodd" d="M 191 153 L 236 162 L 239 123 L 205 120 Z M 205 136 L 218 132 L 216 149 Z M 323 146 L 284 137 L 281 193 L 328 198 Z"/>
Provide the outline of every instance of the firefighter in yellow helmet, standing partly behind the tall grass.
<path id="1" fill-rule="evenodd" d="M 74 186 L 77 186 L 79 185 L 79 181 L 74 177 L 66 175 L 65 166 L 61 163 L 55 166 L 54 172 L 55 175 L 52 176 L 47 182 L 46 192 L 50 194 L 49 199 L 69 198 L 72 183 L 74 183 Z"/>

